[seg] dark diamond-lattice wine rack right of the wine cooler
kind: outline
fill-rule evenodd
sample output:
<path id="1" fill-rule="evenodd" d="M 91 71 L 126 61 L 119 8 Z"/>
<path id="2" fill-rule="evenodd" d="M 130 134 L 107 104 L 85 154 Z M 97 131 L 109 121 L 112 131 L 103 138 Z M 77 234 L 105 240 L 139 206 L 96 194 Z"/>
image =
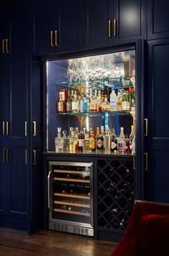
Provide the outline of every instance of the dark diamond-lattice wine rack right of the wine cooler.
<path id="1" fill-rule="evenodd" d="M 98 160 L 99 227 L 123 233 L 134 204 L 132 160 Z"/>

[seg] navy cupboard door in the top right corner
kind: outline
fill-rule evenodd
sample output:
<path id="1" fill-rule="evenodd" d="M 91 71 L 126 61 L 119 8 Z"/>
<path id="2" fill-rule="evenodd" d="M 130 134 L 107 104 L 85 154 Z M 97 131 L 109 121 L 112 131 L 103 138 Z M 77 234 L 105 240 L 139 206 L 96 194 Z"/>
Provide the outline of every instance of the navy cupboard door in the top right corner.
<path id="1" fill-rule="evenodd" d="M 168 12 L 168 0 L 148 0 L 148 40 L 169 37 Z"/>

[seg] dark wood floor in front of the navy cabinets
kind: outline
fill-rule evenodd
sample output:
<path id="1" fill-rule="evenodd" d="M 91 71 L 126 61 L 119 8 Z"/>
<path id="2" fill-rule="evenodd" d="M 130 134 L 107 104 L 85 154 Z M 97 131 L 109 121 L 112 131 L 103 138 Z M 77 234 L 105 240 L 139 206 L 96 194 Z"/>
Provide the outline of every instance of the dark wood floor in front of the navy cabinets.
<path id="1" fill-rule="evenodd" d="M 26 232 L 0 228 L 0 255 L 3 256 L 108 256 L 117 243 L 94 240 L 60 232 Z"/>

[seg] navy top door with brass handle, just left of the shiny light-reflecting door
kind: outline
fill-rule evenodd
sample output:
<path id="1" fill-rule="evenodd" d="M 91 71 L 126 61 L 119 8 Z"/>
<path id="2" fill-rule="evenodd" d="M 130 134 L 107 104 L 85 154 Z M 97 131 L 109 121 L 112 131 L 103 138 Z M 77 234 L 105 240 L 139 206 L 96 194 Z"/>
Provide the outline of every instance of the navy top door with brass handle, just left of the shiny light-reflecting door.
<path id="1" fill-rule="evenodd" d="M 84 47 L 107 47 L 112 45 L 112 0 L 84 1 L 83 41 Z"/>

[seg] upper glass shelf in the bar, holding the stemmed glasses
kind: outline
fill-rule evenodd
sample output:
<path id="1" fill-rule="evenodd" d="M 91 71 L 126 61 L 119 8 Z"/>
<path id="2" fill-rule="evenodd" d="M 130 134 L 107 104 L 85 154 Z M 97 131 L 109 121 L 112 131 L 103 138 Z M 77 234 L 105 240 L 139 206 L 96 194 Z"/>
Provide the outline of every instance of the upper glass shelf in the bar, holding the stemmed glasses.
<path id="1" fill-rule="evenodd" d="M 68 81 L 68 82 L 57 82 L 57 86 L 63 86 L 66 88 L 78 89 L 80 88 L 92 88 L 97 90 L 103 90 L 105 86 L 105 81 L 107 81 L 107 86 L 114 85 L 115 88 L 130 88 L 135 86 L 134 76 L 120 76 L 118 78 L 105 78 L 105 79 L 95 79 L 89 81 Z"/>

